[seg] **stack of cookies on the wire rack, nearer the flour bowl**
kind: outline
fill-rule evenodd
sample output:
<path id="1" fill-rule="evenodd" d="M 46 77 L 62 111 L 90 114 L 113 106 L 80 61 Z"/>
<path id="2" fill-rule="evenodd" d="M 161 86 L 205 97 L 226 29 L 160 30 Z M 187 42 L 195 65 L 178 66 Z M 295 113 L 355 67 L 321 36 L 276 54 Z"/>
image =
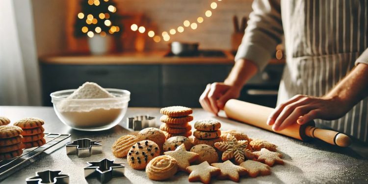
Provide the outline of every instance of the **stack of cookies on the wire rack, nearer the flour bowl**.
<path id="1" fill-rule="evenodd" d="M 24 149 L 42 146 L 46 143 L 43 124 L 44 121 L 39 118 L 24 118 L 14 123 L 15 126 L 23 130 L 22 142 Z"/>

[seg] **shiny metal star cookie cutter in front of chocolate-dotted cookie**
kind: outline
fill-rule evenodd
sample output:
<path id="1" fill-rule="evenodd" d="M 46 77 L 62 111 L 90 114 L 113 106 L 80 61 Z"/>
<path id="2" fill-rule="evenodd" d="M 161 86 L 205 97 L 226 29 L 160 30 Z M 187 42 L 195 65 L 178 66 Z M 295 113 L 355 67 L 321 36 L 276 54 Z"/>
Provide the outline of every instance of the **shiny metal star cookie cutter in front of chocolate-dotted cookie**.
<path id="1" fill-rule="evenodd" d="M 114 160 L 109 160 L 107 158 L 96 161 L 87 162 L 88 167 L 84 167 L 84 178 L 95 177 L 101 183 L 106 183 L 114 177 L 124 176 L 124 165 L 119 163 L 114 163 Z"/>

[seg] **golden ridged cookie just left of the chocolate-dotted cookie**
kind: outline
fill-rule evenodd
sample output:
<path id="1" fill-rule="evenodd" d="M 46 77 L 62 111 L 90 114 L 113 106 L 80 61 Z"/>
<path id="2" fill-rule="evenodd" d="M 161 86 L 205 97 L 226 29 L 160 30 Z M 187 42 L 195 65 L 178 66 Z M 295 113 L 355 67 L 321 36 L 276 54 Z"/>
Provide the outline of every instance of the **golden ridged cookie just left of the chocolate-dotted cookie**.
<path id="1" fill-rule="evenodd" d="M 123 135 L 112 145 L 112 154 L 117 158 L 126 157 L 128 151 L 131 149 L 135 143 L 138 142 L 138 137 L 135 135 Z"/>

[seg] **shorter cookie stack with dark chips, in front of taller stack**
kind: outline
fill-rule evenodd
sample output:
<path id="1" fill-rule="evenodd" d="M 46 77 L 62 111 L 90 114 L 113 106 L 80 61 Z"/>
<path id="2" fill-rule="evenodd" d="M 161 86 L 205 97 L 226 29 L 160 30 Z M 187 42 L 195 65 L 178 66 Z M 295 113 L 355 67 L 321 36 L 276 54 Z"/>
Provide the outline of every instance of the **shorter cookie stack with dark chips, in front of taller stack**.
<path id="1" fill-rule="evenodd" d="M 216 120 L 200 120 L 195 122 L 193 145 L 207 144 L 214 147 L 214 143 L 221 141 L 221 123 Z"/>

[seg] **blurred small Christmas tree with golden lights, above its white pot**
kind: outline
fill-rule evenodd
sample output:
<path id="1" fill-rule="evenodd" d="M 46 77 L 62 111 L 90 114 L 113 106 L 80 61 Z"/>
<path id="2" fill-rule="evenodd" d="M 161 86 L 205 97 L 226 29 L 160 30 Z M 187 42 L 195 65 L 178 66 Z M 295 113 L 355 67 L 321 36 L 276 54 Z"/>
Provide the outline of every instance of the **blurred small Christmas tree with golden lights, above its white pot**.
<path id="1" fill-rule="evenodd" d="M 77 15 L 74 31 L 77 37 L 119 33 L 119 15 L 112 0 L 81 0 L 80 5 L 82 11 Z"/>

